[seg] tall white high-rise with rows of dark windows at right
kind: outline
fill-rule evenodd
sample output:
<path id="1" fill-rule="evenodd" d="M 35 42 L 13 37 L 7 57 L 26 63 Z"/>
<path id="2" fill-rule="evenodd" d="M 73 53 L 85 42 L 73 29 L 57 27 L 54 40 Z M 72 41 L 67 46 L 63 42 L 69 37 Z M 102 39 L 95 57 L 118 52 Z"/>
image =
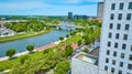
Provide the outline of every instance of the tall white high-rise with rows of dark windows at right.
<path id="1" fill-rule="evenodd" d="M 105 0 L 99 70 L 132 74 L 132 0 Z"/>

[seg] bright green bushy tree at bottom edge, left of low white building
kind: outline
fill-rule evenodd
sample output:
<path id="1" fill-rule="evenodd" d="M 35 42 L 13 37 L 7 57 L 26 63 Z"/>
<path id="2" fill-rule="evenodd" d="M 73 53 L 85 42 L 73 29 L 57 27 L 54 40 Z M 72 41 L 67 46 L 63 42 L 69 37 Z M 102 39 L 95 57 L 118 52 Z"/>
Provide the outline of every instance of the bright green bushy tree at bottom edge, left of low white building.
<path id="1" fill-rule="evenodd" d="M 56 68 L 54 70 L 54 74 L 66 74 L 68 72 L 69 67 L 69 62 L 67 61 L 62 61 L 56 65 Z"/>

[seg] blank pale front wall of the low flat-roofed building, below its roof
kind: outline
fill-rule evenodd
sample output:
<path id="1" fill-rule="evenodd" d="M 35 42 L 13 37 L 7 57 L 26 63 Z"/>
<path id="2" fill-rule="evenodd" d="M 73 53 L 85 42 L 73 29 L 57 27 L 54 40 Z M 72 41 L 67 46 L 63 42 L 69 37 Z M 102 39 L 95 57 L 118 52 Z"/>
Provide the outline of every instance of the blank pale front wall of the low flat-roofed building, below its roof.
<path id="1" fill-rule="evenodd" d="M 72 74 L 98 74 L 98 66 L 72 59 Z"/>

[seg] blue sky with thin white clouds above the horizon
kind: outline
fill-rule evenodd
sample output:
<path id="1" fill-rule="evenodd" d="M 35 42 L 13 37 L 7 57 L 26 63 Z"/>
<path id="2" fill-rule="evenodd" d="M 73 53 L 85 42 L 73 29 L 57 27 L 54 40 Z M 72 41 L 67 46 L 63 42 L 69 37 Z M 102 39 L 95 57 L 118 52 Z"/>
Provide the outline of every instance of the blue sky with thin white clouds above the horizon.
<path id="1" fill-rule="evenodd" d="M 103 0 L 0 0 L 0 15 L 97 15 Z"/>

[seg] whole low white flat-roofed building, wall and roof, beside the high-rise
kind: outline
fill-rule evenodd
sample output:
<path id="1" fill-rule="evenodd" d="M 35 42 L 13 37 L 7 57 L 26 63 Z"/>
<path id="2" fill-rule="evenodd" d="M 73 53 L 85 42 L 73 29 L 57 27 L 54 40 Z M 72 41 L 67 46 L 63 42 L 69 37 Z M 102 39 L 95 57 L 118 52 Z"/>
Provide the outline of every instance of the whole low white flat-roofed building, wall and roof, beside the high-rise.
<path id="1" fill-rule="evenodd" d="M 97 57 L 78 53 L 72 59 L 72 74 L 98 74 Z"/>

